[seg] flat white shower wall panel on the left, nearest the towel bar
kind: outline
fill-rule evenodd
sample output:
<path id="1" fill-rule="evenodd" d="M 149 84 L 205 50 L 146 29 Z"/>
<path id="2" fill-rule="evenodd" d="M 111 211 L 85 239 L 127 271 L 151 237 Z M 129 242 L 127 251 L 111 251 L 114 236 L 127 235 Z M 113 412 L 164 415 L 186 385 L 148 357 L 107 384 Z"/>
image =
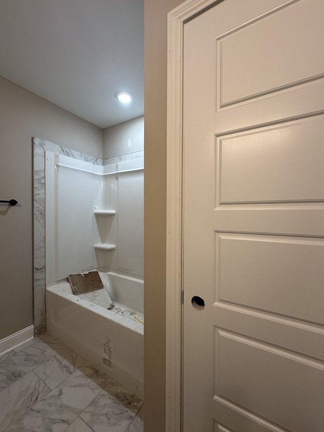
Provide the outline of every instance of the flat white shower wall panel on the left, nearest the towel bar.
<path id="1" fill-rule="evenodd" d="M 93 268 L 94 165 L 46 152 L 46 282 Z"/>

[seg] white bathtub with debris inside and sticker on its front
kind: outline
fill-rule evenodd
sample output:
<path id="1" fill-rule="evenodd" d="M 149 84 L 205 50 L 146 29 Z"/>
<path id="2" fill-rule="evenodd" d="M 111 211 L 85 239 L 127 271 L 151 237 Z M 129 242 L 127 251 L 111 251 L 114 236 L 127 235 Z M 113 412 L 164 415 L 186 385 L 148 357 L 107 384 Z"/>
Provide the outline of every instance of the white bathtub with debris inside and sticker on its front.
<path id="1" fill-rule="evenodd" d="M 143 281 L 99 273 L 106 291 L 76 296 L 67 280 L 46 287 L 47 331 L 142 399 L 144 326 L 132 312 L 143 320 Z"/>

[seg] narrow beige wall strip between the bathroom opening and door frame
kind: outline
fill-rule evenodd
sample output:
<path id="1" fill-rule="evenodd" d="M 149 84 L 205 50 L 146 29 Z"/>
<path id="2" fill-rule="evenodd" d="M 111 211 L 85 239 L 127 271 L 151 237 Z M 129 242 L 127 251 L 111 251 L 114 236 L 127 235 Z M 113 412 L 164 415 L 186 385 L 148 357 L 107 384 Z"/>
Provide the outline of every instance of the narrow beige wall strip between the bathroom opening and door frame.
<path id="1" fill-rule="evenodd" d="M 144 0 L 145 432 L 166 422 L 167 13 L 181 0 Z"/>

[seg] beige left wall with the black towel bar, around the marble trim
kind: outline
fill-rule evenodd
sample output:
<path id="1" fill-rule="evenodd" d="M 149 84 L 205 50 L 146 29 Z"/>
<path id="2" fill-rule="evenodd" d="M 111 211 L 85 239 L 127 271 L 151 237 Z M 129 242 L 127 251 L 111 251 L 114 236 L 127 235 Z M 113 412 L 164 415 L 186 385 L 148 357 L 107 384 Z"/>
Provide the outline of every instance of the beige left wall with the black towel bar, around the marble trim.
<path id="1" fill-rule="evenodd" d="M 32 137 L 102 158 L 102 129 L 0 77 L 0 339 L 32 324 Z"/>

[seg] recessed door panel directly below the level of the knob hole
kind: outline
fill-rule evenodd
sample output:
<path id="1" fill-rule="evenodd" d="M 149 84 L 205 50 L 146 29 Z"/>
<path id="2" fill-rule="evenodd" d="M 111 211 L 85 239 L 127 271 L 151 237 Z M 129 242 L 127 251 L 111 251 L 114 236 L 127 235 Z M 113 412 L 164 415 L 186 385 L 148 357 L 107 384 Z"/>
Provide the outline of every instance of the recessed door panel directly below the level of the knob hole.
<path id="1" fill-rule="evenodd" d="M 215 395 L 294 432 L 324 424 L 323 363 L 227 331 L 215 333 Z M 317 428 L 310 427 L 312 419 Z"/>

